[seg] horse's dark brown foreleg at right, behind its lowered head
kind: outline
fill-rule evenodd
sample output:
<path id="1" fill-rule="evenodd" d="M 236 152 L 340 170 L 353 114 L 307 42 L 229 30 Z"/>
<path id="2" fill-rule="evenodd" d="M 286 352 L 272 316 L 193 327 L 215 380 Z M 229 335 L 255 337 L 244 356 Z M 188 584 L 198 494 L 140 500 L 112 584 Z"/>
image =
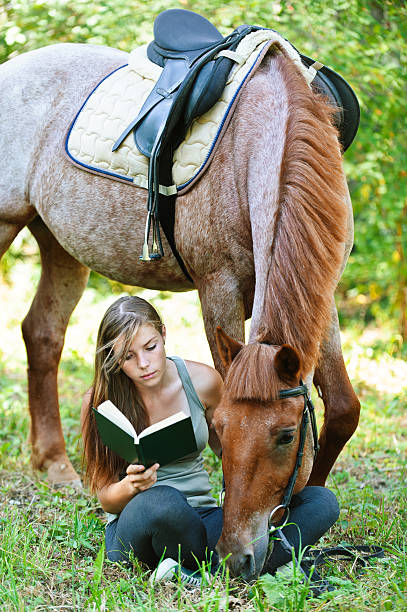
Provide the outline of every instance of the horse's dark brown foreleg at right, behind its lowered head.
<path id="1" fill-rule="evenodd" d="M 320 450 L 307 484 L 324 485 L 339 453 L 354 433 L 360 413 L 360 402 L 343 360 L 336 308 L 328 337 L 321 347 L 314 384 L 322 395 L 325 414 L 319 436 Z"/>

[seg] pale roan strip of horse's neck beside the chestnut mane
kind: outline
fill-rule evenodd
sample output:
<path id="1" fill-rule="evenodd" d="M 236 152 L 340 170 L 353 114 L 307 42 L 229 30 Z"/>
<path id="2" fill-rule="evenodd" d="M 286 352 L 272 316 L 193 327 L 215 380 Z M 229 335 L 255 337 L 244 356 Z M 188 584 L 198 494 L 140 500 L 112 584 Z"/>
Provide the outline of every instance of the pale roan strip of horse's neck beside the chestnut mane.
<path id="1" fill-rule="evenodd" d="M 280 174 L 288 117 L 286 87 L 273 57 L 265 59 L 248 83 L 236 115 L 237 141 L 248 143 L 242 147 L 236 176 L 246 181 L 253 241 L 256 286 L 249 341 L 254 342 L 264 323 L 263 303 L 280 210 Z"/>

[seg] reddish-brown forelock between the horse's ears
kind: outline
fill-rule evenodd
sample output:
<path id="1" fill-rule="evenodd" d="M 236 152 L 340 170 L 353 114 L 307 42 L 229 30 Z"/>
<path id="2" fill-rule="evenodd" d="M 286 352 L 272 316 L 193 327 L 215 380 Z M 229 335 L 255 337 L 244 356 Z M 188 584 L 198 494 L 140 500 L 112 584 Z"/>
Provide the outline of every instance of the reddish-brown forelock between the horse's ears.
<path id="1" fill-rule="evenodd" d="M 225 378 L 225 394 L 232 400 L 270 402 L 277 399 L 281 380 L 273 367 L 275 347 L 253 343 L 232 361 Z"/>

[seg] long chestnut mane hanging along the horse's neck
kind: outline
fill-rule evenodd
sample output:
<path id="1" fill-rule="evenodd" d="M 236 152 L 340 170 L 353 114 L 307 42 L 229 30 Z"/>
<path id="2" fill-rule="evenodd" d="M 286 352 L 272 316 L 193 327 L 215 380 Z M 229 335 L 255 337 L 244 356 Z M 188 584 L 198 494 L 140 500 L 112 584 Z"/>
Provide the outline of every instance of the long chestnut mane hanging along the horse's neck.
<path id="1" fill-rule="evenodd" d="M 330 322 L 344 256 L 345 179 L 333 110 L 279 55 L 289 100 L 279 211 L 257 340 L 288 343 L 306 374 Z"/>

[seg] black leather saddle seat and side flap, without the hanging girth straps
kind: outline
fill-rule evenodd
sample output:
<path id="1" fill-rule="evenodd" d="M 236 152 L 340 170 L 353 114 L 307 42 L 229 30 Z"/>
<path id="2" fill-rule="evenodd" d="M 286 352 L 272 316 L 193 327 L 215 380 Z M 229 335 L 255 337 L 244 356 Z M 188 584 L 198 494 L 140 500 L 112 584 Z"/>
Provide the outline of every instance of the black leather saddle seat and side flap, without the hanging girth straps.
<path id="1" fill-rule="evenodd" d="M 233 66 L 230 57 L 219 56 L 234 49 L 256 26 L 239 26 L 231 35 L 221 33 L 205 17 L 185 9 L 168 9 L 154 21 L 154 40 L 147 47 L 150 61 L 163 68 L 137 117 L 120 135 L 115 151 L 134 130 L 140 153 L 152 157 L 161 149 L 176 148 L 195 117 L 206 113 L 219 99 Z"/>

